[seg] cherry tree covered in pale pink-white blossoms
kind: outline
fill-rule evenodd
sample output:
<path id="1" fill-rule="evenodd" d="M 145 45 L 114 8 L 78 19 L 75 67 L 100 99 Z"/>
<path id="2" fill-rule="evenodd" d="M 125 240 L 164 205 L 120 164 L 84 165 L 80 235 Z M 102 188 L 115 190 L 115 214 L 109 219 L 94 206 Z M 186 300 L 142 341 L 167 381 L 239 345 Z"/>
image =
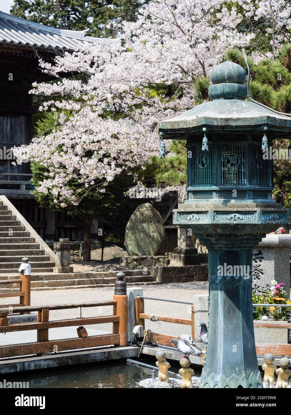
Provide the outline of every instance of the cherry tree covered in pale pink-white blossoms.
<path id="1" fill-rule="evenodd" d="M 290 12 L 282 0 L 151 1 L 135 22 L 112 28 L 124 40 L 40 61 L 56 82 L 34 84 L 31 93 L 49 97 L 40 109 L 58 117 L 26 148 L 46 170 L 37 190 L 61 207 L 78 205 L 84 189 L 106 192 L 121 172 L 145 168 L 159 148 L 157 121 L 193 107 L 195 81 L 232 46 L 247 40 L 254 59 L 275 56 L 289 41 Z M 23 148 L 14 151 L 17 163 L 27 158 Z M 80 190 L 70 188 L 72 179 Z"/>

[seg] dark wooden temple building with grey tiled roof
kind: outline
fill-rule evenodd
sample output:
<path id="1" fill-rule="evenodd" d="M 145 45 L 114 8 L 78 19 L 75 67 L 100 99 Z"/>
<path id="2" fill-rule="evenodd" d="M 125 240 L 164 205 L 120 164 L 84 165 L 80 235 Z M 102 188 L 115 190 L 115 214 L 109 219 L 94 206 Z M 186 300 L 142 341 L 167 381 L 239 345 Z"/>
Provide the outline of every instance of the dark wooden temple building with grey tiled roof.
<path id="1" fill-rule="evenodd" d="M 90 37 L 88 29 L 57 29 L 0 12 L 0 194 L 11 200 L 46 241 L 81 240 L 82 224 L 64 212 L 38 206 L 29 194 L 33 188 L 29 163 L 13 165 L 10 149 L 32 139 L 32 115 L 37 108 L 32 106 L 29 90 L 34 82 L 50 80 L 39 68 L 39 59 L 51 61 L 56 54 L 76 51 L 85 42 L 98 44 L 100 38 Z"/>

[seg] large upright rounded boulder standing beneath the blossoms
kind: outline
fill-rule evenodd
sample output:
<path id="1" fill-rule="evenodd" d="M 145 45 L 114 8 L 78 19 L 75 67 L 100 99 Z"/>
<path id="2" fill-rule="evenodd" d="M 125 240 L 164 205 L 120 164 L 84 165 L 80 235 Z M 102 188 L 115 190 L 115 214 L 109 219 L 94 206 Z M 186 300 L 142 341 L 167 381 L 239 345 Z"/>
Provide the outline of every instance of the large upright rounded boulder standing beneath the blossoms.
<path id="1" fill-rule="evenodd" d="M 144 203 L 127 222 L 124 244 L 129 255 L 157 255 L 165 237 L 163 218 L 150 203 Z"/>

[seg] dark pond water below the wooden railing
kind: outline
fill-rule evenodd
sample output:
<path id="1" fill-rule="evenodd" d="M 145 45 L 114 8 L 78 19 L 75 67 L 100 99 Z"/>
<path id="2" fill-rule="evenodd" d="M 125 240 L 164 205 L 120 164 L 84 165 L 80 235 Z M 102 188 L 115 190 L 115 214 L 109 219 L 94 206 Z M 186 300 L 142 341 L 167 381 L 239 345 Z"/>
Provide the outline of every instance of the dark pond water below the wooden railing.
<path id="1" fill-rule="evenodd" d="M 154 366 L 153 359 L 146 362 Z M 171 363 L 171 371 L 178 373 L 181 366 Z M 195 368 L 200 376 L 201 369 Z M 170 374 L 171 377 L 176 376 Z M 17 374 L 0 375 L 3 382 L 29 382 L 29 388 L 139 388 L 139 381 L 152 377 L 152 369 L 114 360 L 106 363 L 92 363 L 66 368 L 46 369 Z"/>

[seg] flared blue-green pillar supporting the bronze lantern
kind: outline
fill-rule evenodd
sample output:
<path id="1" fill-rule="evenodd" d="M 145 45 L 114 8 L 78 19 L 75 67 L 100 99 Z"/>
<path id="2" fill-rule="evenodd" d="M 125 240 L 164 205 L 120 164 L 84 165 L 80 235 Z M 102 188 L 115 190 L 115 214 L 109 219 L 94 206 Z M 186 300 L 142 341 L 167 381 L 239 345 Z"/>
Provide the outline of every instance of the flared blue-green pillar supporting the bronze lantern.
<path id="1" fill-rule="evenodd" d="M 209 327 L 201 388 L 262 388 L 254 342 L 252 248 L 240 249 L 230 235 L 213 238 L 209 247 Z M 203 239 L 199 235 L 199 238 Z M 225 249 L 221 244 L 236 245 Z M 215 247 L 215 250 L 213 249 Z"/>

